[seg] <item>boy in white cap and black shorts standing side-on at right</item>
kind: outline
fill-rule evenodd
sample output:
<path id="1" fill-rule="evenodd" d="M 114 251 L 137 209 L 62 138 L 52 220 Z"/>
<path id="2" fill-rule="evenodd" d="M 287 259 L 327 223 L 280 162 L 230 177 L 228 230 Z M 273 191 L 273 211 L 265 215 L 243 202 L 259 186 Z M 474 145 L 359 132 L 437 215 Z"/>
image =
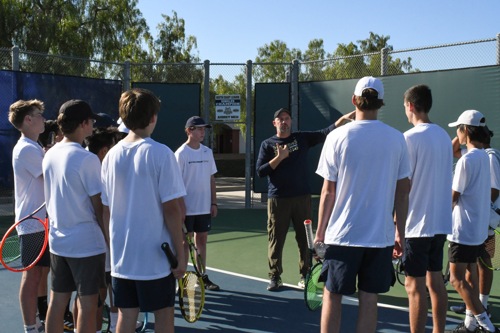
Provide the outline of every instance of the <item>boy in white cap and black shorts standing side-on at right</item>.
<path id="1" fill-rule="evenodd" d="M 479 111 L 466 110 L 448 126 L 456 126 L 458 142 L 467 146 L 467 153 L 455 167 L 451 187 L 453 232 L 447 237 L 450 283 L 465 302 L 465 321 L 448 332 L 500 332 L 491 324 L 479 300 L 477 279 L 476 261 L 487 237 L 491 184 L 489 158 L 480 143 L 488 135 L 484 116 Z"/>

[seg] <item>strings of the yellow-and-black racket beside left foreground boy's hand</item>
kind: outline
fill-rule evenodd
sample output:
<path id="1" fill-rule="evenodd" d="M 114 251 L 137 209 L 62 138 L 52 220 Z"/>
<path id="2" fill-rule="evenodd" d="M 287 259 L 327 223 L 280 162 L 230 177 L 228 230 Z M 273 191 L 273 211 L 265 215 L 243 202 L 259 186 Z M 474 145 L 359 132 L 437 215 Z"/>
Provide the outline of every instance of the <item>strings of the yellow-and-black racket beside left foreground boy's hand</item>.
<path id="1" fill-rule="evenodd" d="M 184 315 L 188 322 L 198 319 L 204 303 L 203 285 L 196 274 L 186 274 L 183 279 L 182 303 Z"/>

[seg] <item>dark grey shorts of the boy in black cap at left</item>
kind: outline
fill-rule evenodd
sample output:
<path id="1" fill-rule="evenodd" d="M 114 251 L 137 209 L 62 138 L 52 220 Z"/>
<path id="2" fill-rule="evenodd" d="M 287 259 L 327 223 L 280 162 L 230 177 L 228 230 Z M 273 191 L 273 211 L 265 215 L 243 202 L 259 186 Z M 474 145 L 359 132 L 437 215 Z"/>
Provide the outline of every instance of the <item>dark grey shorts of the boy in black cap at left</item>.
<path id="1" fill-rule="evenodd" d="M 83 258 L 50 254 L 50 289 L 56 293 L 76 291 L 78 296 L 99 294 L 106 288 L 106 254 Z"/>

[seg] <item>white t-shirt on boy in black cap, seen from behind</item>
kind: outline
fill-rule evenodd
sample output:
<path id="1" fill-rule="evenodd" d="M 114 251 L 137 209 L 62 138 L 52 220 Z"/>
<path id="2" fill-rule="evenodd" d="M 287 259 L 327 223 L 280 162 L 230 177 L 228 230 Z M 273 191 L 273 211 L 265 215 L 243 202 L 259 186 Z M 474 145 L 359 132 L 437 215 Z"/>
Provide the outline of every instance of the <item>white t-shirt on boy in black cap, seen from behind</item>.
<path id="1" fill-rule="evenodd" d="M 59 142 L 43 159 L 50 252 L 83 258 L 106 251 L 90 197 L 99 194 L 100 161 L 76 142 Z"/>

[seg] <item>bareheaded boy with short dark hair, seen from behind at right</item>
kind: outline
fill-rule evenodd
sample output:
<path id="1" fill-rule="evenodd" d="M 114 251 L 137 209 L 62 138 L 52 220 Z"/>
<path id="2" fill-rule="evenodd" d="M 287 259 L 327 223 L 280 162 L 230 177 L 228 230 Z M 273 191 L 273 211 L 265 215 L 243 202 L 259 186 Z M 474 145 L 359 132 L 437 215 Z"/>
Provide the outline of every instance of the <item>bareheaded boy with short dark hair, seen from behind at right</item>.
<path id="1" fill-rule="evenodd" d="M 432 94 L 415 85 L 404 93 L 404 110 L 413 128 L 404 132 L 411 165 L 405 250 L 411 332 L 424 332 L 429 286 L 434 332 L 444 331 L 447 293 L 442 279 L 443 247 L 451 233 L 451 141 L 444 129 L 430 122 Z M 425 306 L 423 306 L 425 305 Z"/>

